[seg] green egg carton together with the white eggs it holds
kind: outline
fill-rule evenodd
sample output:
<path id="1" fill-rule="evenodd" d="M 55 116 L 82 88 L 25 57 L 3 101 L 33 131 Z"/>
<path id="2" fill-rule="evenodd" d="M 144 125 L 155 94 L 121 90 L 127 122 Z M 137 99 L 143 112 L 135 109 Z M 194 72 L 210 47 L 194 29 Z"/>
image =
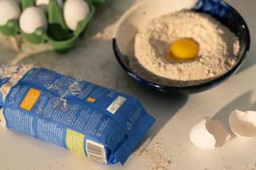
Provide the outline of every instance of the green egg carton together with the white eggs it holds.
<path id="1" fill-rule="evenodd" d="M 5 36 L 21 33 L 30 44 L 48 41 L 57 52 L 67 52 L 92 20 L 94 4 L 107 1 L 2 0 L 0 32 Z"/>

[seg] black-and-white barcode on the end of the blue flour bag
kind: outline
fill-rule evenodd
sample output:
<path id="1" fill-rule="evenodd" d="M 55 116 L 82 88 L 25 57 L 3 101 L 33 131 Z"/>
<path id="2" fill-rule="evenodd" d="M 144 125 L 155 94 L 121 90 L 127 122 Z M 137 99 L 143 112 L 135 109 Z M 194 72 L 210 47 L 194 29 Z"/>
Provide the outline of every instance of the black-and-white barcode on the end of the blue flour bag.
<path id="1" fill-rule="evenodd" d="M 86 151 L 89 158 L 106 163 L 105 148 L 103 145 L 86 139 Z"/>

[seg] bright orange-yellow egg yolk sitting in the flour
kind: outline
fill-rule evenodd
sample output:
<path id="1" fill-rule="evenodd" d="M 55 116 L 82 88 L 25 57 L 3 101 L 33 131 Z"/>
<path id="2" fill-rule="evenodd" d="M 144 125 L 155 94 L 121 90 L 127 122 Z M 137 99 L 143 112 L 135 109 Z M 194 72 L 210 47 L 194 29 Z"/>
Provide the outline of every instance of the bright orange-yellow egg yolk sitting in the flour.
<path id="1" fill-rule="evenodd" d="M 192 39 L 179 39 L 170 45 L 167 53 L 167 59 L 174 61 L 192 60 L 199 54 L 199 44 Z"/>

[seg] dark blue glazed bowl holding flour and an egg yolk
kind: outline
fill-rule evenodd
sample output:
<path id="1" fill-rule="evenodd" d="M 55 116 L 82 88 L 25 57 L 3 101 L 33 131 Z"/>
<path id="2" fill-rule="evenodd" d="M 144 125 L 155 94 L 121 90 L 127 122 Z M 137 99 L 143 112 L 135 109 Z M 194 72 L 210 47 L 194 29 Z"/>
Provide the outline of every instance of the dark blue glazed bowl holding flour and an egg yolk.
<path id="1" fill-rule="evenodd" d="M 193 48 L 175 46 L 178 41 L 193 43 Z M 122 16 L 113 36 L 115 57 L 132 78 L 162 92 L 184 94 L 224 82 L 242 65 L 249 47 L 245 20 L 217 0 L 140 3 Z M 196 56 L 167 58 L 191 53 Z"/>

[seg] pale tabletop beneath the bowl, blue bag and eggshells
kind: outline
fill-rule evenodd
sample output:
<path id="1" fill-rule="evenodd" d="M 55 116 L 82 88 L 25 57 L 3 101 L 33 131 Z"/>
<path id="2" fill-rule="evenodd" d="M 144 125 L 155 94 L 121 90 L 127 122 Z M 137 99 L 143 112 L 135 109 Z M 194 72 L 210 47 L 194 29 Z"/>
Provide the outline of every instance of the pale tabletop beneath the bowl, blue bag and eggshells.
<path id="1" fill-rule="evenodd" d="M 250 52 L 240 71 L 227 82 L 190 96 L 168 96 L 146 90 L 131 80 L 115 60 L 111 41 L 113 29 L 135 0 L 112 0 L 108 7 L 98 11 L 80 45 L 68 54 L 56 54 L 49 46 L 41 46 L 41 49 L 39 46 L 38 52 L 26 44 L 19 46 L 19 50 L 11 47 L 11 40 L 1 37 L 0 64 L 34 63 L 137 96 L 156 122 L 144 138 L 144 143 L 150 141 L 149 144 L 141 146 L 123 167 L 120 164 L 106 167 L 47 142 L 0 128 L 0 169 L 158 168 L 155 164 L 163 169 L 255 168 L 255 138 L 245 140 L 233 136 L 231 141 L 216 150 L 202 150 L 189 141 L 192 126 L 205 116 L 214 117 L 228 126 L 227 118 L 234 109 L 256 111 L 256 1 L 227 2 L 242 14 L 249 25 Z M 166 160 L 170 165 L 162 165 Z"/>

